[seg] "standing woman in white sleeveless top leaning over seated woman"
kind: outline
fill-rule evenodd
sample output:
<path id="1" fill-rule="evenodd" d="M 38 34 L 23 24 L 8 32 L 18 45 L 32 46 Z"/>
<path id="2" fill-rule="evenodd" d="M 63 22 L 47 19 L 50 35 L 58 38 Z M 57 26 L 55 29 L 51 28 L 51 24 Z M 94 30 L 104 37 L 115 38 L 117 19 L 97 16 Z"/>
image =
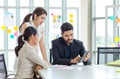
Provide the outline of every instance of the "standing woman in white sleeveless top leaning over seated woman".
<path id="1" fill-rule="evenodd" d="M 39 53 L 40 56 L 42 56 L 42 58 L 48 62 L 45 45 L 44 45 L 44 30 L 42 27 L 42 24 L 45 21 L 46 16 L 47 16 L 47 12 L 44 8 L 42 7 L 35 8 L 33 13 L 29 13 L 28 15 L 25 16 L 22 24 L 20 25 L 20 32 L 23 33 L 25 28 L 28 26 L 33 26 L 37 29 L 40 39 L 39 44 L 37 45 L 37 49 L 38 52 L 41 52 Z"/>

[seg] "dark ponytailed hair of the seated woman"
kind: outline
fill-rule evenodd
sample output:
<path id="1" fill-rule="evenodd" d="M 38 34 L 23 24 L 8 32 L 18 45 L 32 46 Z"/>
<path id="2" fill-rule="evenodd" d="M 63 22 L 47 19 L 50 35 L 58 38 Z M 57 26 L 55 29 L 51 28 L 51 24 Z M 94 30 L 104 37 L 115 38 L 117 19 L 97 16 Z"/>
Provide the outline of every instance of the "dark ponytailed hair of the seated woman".
<path id="1" fill-rule="evenodd" d="M 37 34 L 37 30 L 33 26 L 28 26 L 25 29 L 23 35 L 20 35 L 18 37 L 18 46 L 15 47 L 15 54 L 17 57 L 18 57 L 18 52 L 24 45 L 24 41 L 28 41 L 31 35 L 35 36 L 36 34 Z"/>

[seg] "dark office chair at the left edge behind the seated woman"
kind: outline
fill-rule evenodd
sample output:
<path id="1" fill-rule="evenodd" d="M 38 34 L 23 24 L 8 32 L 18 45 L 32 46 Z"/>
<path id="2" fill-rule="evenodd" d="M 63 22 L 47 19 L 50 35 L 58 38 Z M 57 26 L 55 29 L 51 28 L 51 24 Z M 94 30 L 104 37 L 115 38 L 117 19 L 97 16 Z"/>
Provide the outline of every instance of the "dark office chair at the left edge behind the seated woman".
<path id="1" fill-rule="evenodd" d="M 8 75 L 6 64 L 5 64 L 4 54 L 0 54 L 0 79 L 6 79 L 10 75 L 14 76 L 15 74 Z"/>

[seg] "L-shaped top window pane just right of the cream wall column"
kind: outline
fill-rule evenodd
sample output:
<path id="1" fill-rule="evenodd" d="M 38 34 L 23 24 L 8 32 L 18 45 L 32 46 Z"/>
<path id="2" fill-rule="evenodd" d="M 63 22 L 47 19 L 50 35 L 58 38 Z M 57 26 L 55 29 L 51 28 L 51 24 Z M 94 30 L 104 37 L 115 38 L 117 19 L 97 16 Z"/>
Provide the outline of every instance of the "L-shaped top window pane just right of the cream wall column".
<path id="1" fill-rule="evenodd" d="M 113 5 L 113 0 L 96 0 L 96 17 L 105 17 L 105 6 Z"/>

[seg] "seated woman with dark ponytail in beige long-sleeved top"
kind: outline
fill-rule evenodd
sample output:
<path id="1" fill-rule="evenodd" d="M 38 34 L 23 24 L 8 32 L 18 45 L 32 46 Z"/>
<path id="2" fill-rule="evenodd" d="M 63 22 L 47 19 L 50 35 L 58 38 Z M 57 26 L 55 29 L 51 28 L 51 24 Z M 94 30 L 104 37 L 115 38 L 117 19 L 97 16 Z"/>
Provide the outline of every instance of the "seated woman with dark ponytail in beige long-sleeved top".
<path id="1" fill-rule="evenodd" d="M 23 35 L 18 37 L 18 46 L 15 48 L 15 53 L 18 56 L 15 78 L 33 78 L 36 65 L 48 68 L 48 63 L 38 56 L 36 49 L 38 42 L 37 30 L 32 26 L 27 27 Z"/>

